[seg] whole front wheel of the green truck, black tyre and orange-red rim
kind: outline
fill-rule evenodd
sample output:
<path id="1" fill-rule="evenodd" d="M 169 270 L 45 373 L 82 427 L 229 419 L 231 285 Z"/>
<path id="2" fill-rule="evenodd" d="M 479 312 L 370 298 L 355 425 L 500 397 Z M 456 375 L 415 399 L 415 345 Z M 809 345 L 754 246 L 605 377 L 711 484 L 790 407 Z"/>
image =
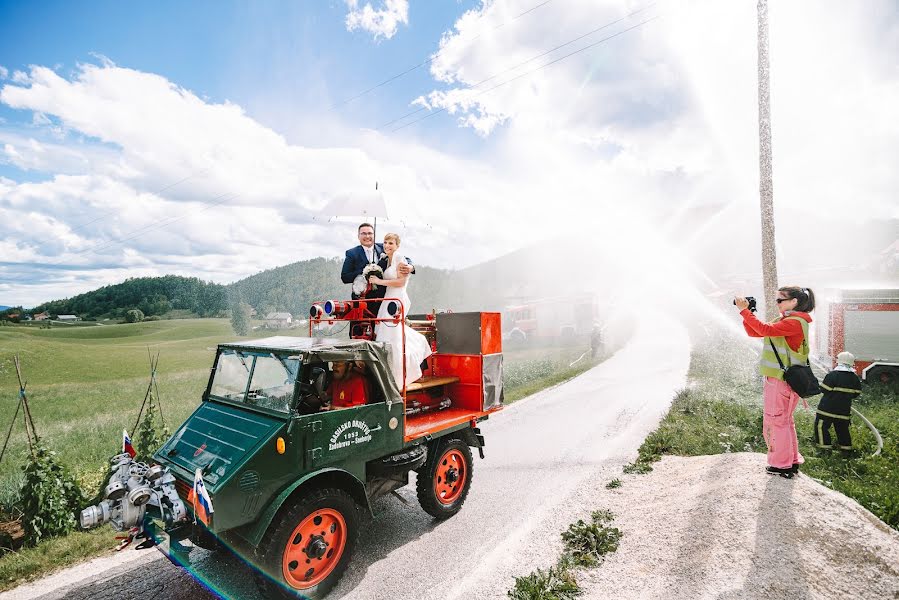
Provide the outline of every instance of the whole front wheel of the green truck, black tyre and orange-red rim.
<path id="1" fill-rule="evenodd" d="M 267 598 L 321 598 L 349 564 L 359 537 L 359 507 L 340 489 L 313 490 L 272 523 L 257 553 Z"/>

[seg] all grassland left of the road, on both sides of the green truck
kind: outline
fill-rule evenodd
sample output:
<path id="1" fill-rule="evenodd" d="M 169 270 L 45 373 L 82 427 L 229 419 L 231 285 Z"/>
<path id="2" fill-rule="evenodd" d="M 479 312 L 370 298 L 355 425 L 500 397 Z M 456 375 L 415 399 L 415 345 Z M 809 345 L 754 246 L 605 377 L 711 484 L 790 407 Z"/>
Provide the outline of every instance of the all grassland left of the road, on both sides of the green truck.
<path id="1" fill-rule="evenodd" d="M 298 330 L 291 335 L 301 335 Z M 246 339 L 268 335 L 254 332 Z M 38 434 L 93 495 L 108 459 L 131 431 L 149 382 L 148 349 L 160 352 L 157 381 L 166 424 L 174 430 L 196 408 L 209 377 L 217 344 L 240 339 L 226 319 L 184 319 L 136 324 L 0 327 L 0 431 L 9 427 L 17 404 L 13 356 L 28 382 L 29 405 Z M 569 379 L 596 364 L 586 342 L 563 346 L 511 347 L 504 353 L 506 402 Z M 28 448 L 19 417 L 0 463 L 0 519 L 18 517 L 21 467 Z M 78 532 L 35 548 L 0 556 L 0 591 L 54 568 L 109 552 L 112 531 Z"/>

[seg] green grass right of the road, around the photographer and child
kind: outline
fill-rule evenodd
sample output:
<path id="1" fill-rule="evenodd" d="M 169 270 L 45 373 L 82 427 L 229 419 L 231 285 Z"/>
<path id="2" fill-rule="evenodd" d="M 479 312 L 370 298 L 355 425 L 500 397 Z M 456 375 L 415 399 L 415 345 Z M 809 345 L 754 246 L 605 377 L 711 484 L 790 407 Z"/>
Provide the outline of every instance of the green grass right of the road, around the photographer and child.
<path id="1" fill-rule="evenodd" d="M 742 347 L 731 340 L 730 347 Z M 700 345 L 690 364 L 690 387 L 677 393 L 667 416 L 640 447 L 629 472 L 647 472 L 663 454 L 698 456 L 725 452 L 766 452 L 762 438 L 761 380 L 757 359 L 735 355 L 721 343 Z M 872 456 L 876 441 L 860 419 L 852 420 L 855 451 L 821 451 L 813 441 L 814 407 L 796 411 L 802 473 L 856 500 L 886 524 L 899 529 L 899 393 L 866 385 L 854 406 L 880 431 L 883 451 Z M 801 406 L 801 405 L 800 405 Z"/>

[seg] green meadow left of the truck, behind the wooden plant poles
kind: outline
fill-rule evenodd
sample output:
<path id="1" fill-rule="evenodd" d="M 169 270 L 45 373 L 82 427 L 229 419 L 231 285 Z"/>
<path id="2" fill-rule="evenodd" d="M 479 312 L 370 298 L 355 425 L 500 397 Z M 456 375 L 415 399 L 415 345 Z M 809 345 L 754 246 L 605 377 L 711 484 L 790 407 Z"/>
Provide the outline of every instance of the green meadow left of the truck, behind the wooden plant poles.
<path id="1" fill-rule="evenodd" d="M 225 319 L 152 321 L 39 329 L 0 327 L 0 427 L 16 409 L 18 355 L 38 434 L 85 483 L 99 481 L 134 426 L 146 393 L 148 349 L 157 372 L 163 416 L 176 426 L 197 406 L 216 344 L 235 339 Z M 0 463 L 0 510 L 10 516 L 27 445 L 21 417 Z M 133 434 L 134 432 L 132 432 Z M 94 490 L 86 490 L 94 491 Z"/>

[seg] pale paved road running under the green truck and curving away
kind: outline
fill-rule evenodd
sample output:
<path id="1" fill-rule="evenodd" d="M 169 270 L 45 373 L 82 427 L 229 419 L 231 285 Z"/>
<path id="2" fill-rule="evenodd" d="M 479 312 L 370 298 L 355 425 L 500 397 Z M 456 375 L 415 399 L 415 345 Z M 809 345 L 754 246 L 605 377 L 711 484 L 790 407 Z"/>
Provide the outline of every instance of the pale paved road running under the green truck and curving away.
<path id="1" fill-rule="evenodd" d="M 433 521 L 418 507 L 414 485 L 399 490 L 407 503 L 380 499 L 329 598 L 505 598 L 514 576 L 555 561 L 568 523 L 600 508 L 584 490 L 633 458 L 685 384 L 689 358 L 680 324 L 643 313 L 612 358 L 483 424 L 486 460 L 475 459 L 473 487 L 458 515 Z M 195 551 L 207 588 L 158 552 L 144 552 L 128 564 L 70 570 L 0 599 L 261 598 L 234 557 Z"/>

